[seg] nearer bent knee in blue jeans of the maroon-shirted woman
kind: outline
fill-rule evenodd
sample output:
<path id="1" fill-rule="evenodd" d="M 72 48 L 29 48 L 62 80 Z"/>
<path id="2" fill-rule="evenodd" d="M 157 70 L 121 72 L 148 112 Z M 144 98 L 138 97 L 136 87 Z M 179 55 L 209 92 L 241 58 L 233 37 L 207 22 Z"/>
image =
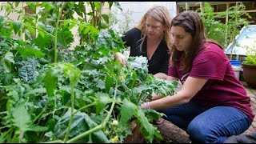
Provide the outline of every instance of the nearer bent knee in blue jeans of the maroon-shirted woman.
<path id="1" fill-rule="evenodd" d="M 222 143 L 230 135 L 242 134 L 251 121 L 241 111 L 229 106 L 216 106 L 199 114 L 189 124 L 190 139 L 203 143 Z"/>

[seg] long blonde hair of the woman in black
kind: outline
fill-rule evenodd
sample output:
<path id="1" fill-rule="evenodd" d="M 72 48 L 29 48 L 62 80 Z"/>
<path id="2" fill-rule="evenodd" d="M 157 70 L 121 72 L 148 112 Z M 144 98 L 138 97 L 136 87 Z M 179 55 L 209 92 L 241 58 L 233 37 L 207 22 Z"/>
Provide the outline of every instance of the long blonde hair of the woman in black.
<path id="1" fill-rule="evenodd" d="M 142 45 L 146 38 L 146 18 L 149 17 L 154 18 L 158 22 L 162 22 L 162 24 L 166 25 L 163 39 L 165 40 L 168 48 L 170 49 L 170 22 L 172 18 L 170 18 L 170 14 L 165 6 L 152 6 L 149 10 L 146 11 L 146 14 L 143 15 L 142 19 L 135 26 L 135 28 L 138 28 L 142 31 L 142 39 L 139 40 L 142 41 L 140 44 L 140 50 L 142 50 Z"/>

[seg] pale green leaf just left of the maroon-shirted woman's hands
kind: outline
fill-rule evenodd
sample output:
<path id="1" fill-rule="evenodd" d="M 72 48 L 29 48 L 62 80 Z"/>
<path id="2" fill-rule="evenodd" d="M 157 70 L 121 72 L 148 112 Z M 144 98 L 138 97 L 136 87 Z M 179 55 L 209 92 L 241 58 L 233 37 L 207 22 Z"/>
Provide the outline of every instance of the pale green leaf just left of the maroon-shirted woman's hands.
<path id="1" fill-rule="evenodd" d="M 133 102 L 128 101 L 127 99 L 125 99 L 123 101 L 123 104 L 121 106 L 121 122 L 122 124 L 128 124 L 130 122 L 130 118 L 132 118 L 132 116 L 135 113 L 137 106 L 134 105 Z"/>

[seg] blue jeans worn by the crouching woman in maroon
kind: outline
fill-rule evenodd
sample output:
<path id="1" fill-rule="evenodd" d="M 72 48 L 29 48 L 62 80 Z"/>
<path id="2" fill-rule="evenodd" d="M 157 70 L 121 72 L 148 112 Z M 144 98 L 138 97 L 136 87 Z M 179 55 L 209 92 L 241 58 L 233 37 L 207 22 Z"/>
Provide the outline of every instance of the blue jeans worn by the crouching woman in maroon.
<path id="1" fill-rule="evenodd" d="M 223 143 L 231 135 L 242 134 L 252 123 L 246 114 L 233 107 L 206 109 L 193 99 L 159 112 L 166 114 L 163 118 L 167 121 L 185 130 L 193 143 Z"/>

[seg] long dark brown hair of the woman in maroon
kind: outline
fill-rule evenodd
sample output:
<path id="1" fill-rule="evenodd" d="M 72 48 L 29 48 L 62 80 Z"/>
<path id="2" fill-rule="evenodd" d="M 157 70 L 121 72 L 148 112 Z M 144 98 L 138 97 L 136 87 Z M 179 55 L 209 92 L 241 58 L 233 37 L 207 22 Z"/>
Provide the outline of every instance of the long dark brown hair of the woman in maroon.
<path id="1" fill-rule="evenodd" d="M 190 48 L 187 50 L 186 54 L 177 50 L 176 46 L 170 46 L 170 66 L 173 66 L 182 57 L 182 62 L 180 63 L 180 69 L 184 73 L 190 72 L 192 68 L 192 62 L 194 57 L 199 52 L 200 45 L 202 42 L 214 42 L 213 40 L 206 39 L 205 26 L 200 18 L 199 14 L 193 10 L 183 11 L 179 13 L 170 23 L 170 26 L 181 26 L 187 33 L 190 33 L 193 40 Z M 214 42 L 222 49 L 223 47 Z"/>

